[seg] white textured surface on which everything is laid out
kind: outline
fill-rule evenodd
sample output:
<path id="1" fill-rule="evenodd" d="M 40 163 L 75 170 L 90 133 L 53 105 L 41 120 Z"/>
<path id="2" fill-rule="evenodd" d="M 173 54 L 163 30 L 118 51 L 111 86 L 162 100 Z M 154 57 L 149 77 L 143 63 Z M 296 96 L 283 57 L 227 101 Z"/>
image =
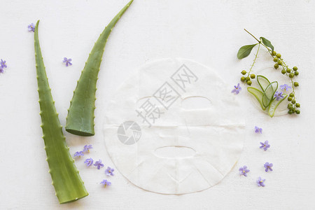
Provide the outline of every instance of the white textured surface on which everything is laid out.
<path id="1" fill-rule="evenodd" d="M 0 58 L 8 69 L 0 74 L 0 209 L 314 209 L 314 63 L 315 2 L 134 0 L 106 45 L 99 72 L 96 135 L 76 137 L 64 132 L 71 153 L 85 144 L 90 157 L 113 166 L 104 146 L 102 127 L 109 97 L 137 66 L 163 57 L 185 57 L 218 69 L 231 90 L 253 55 L 237 60 L 241 45 L 255 43 L 243 31 L 265 36 L 290 66 L 299 66 L 301 115 L 269 118 L 239 94 L 247 134 L 237 165 L 217 186 L 190 195 L 159 195 L 137 188 L 119 172 L 113 185 L 102 188 L 104 170 L 76 161 L 88 197 L 59 205 L 45 161 L 39 116 L 34 34 L 27 25 L 40 19 L 39 36 L 52 96 L 65 125 L 66 110 L 94 41 L 128 0 L 21 1 L 1 0 Z M 73 66 L 65 67 L 63 57 Z M 266 52 L 259 66 L 272 66 Z M 254 71 L 255 71 L 254 69 Z M 279 73 L 281 77 L 281 73 Z M 257 135 L 253 127 L 263 128 Z M 269 140 L 263 152 L 260 141 Z M 263 164 L 274 163 L 265 173 Z M 248 177 L 238 169 L 247 165 Z M 105 168 L 104 168 L 105 169 Z M 267 179 L 258 188 L 255 179 Z M 193 184 L 193 183 L 191 183 Z"/>

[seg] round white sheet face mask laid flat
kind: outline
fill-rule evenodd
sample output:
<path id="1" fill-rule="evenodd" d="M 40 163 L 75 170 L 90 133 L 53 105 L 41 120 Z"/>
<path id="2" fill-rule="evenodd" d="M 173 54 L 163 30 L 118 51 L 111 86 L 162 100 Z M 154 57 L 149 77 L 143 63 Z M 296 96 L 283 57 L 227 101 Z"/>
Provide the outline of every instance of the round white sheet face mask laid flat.
<path id="1" fill-rule="evenodd" d="M 188 59 L 141 66 L 106 111 L 104 139 L 116 168 L 155 193 L 214 186 L 243 148 L 244 120 L 232 87 Z"/>

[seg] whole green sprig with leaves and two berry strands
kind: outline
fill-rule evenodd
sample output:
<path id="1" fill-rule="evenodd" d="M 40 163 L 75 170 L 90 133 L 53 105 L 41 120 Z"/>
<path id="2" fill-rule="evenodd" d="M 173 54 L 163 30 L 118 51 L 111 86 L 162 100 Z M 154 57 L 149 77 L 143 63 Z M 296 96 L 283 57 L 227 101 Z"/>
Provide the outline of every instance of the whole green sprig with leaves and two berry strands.
<path id="1" fill-rule="evenodd" d="M 244 29 L 248 34 L 250 34 L 251 36 L 253 36 L 253 34 L 251 34 L 250 32 L 248 32 L 246 29 Z M 259 39 L 256 38 L 255 36 L 253 36 L 253 38 L 255 38 L 256 41 L 258 41 L 258 43 L 252 44 L 252 45 L 244 45 L 241 48 L 239 48 L 239 52 L 237 52 L 237 58 L 238 59 L 243 59 L 244 57 L 247 57 L 249 54 L 251 54 L 251 50 L 253 50 L 253 48 L 255 47 L 255 45 L 258 45 L 258 49 L 255 53 L 255 58 L 253 59 L 253 64 L 251 65 L 251 68 L 248 71 L 241 71 L 241 74 L 244 76 L 241 76 L 241 81 L 247 85 L 251 85 L 252 81 L 251 79 L 255 78 L 255 74 L 252 73 L 253 70 L 253 66 L 257 60 L 258 57 L 258 52 L 260 50 L 260 45 L 262 45 L 263 47 L 265 47 L 270 56 L 272 57 L 273 61 L 275 62 L 274 64 L 274 69 L 281 69 L 281 73 L 284 76 L 288 76 L 288 78 L 290 78 L 290 82 L 292 84 L 292 92 L 290 92 L 290 94 L 288 95 L 288 113 L 289 114 L 300 114 L 300 104 L 296 102 L 296 97 L 295 97 L 295 90 L 296 87 L 299 86 L 299 83 L 297 83 L 294 78 L 296 76 L 299 75 L 299 71 L 297 71 L 297 66 L 294 66 L 292 69 L 289 68 L 288 64 L 286 64 L 286 62 L 284 62 L 283 58 L 281 57 L 280 53 L 277 53 L 276 51 L 274 51 L 274 46 L 272 45 L 272 43 L 264 37 L 260 37 Z"/>

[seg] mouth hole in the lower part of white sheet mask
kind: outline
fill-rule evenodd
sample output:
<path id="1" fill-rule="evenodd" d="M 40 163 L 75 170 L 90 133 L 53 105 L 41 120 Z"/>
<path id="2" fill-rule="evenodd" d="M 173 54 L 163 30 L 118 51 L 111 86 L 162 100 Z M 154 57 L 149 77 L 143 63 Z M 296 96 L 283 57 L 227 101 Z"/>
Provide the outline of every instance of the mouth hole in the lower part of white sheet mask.
<path id="1" fill-rule="evenodd" d="M 193 148 L 187 146 L 162 146 L 155 150 L 160 158 L 190 158 L 196 154 Z"/>

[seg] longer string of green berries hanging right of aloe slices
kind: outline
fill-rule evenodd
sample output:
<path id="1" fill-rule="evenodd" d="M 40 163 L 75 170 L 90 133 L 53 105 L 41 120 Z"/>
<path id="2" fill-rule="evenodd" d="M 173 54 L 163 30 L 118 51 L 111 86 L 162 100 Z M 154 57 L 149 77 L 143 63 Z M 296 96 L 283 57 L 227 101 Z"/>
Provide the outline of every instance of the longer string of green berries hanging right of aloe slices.
<path id="1" fill-rule="evenodd" d="M 299 83 L 293 81 L 293 78 L 299 75 L 299 71 L 297 71 L 297 66 L 294 66 L 292 69 L 290 69 L 288 65 L 286 64 L 286 62 L 283 61 L 283 58 L 281 57 L 280 53 L 276 53 L 275 51 L 272 51 L 271 55 L 275 62 L 274 69 L 279 69 L 279 67 L 281 66 L 282 67 L 281 73 L 285 76 L 288 76 L 292 83 L 292 92 L 290 92 L 288 96 L 288 102 L 289 102 L 288 113 L 300 114 L 300 110 L 298 109 L 300 108 L 300 104 L 297 103 L 295 100 L 295 88 L 299 86 Z"/>

